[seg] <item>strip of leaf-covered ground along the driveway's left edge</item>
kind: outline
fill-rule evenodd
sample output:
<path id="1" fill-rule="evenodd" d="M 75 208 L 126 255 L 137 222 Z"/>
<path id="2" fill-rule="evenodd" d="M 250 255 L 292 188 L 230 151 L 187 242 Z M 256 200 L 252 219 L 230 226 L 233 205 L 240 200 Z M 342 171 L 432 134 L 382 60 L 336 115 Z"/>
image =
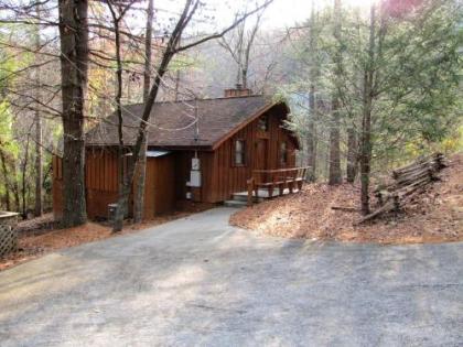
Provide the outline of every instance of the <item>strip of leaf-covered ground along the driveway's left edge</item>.
<path id="1" fill-rule="evenodd" d="M 111 232 L 111 227 L 108 223 L 87 223 L 84 226 L 75 228 L 58 229 L 56 228 L 57 223 L 53 219 L 53 214 L 46 214 L 39 218 L 24 220 L 18 225 L 18 251 L 0 258 L 0 271 L 24 261 L 42 257 L 57 249 L 117 237 L 119 235 L 137 232 L 139 230 L 186 217 L 193 213 L 203 212 L 212 207 L 213 205 L 211 204 L 184 202 L 180 204 L 176 210 L 171 215 L 144 220 L 139 225 L 131 225 L 128 223 L 123 230 L 118 234 Z"/>

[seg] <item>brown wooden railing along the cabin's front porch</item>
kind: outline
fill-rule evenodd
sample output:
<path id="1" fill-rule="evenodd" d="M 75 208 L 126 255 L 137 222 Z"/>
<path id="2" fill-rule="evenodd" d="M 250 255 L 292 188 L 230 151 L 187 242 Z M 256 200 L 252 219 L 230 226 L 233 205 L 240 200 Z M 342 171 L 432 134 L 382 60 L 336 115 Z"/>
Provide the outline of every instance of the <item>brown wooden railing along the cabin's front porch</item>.
<path id="1" fill-rule="evenodd" d="M 294 189 L 302 189 L 306 172 L 310 166 L 276 169 L 276 170 L 254 170 L 252 176 L 248 183 L 248 205 L 252 205 L 254 197 L 259 198 L 259 188 L 265 188 L 269 197 L 273 196 L 274 188 L 278 188 L 279 195 L 283 195 L 286 188 L 290 193 Z"/>

